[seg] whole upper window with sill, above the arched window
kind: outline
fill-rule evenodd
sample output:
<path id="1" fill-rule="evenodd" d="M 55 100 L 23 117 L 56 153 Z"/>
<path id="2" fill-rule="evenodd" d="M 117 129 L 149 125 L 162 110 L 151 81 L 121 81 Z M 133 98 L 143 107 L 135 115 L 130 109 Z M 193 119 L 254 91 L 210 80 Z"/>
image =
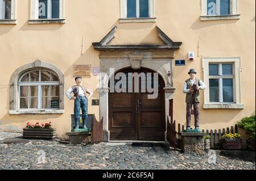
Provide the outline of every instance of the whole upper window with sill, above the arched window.
<path id="1" fill-rule="evenodd" d="M 28 23 L 65 23 L 64 0 L 31 0 Z"/>

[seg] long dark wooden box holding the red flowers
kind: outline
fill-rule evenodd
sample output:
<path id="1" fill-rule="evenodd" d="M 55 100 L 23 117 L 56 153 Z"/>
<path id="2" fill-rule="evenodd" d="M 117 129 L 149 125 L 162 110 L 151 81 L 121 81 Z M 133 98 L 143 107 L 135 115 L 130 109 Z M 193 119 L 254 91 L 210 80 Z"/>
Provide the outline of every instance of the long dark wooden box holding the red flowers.
<path id="1" fill-rule="evenodd" d="M 56 134 L 53 128 L 23 128 L 23 138 L 39 138 L 52 140 Z"/>

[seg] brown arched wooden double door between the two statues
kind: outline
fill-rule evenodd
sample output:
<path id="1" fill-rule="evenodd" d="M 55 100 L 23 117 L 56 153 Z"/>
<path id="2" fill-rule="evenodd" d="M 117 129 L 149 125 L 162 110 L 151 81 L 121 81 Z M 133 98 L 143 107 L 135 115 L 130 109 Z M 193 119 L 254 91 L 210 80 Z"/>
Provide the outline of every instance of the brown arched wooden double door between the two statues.
<path id="1" fill-rule="evenodd" d="M 126 92 L 109 93 L 109 131 L 110 140 L 142 140 L 164 141 L 166 130 L 164 113 L 164 82 L 158 76 L 158 96 L 156 99 L 148 99 L 148 91 L 143 92 L 143 86 L 147 86 L 147 78 L 151 76 L 151 86 L 154 84 L 154 71 L 148 69 L 123 69 L 119 72 L 126 75 Z M 118 73 L 118 72 L 117 72 Z M 115 73 L 115 74 L 117 74 Z M 139 92 L 134 92 L 133 83 L 127 78 L 129 73 L 145 73 L 146 79 L 139 79 Z M 147 73 L 151 75 L 147 76 Z M 121 78 L 120 78 L 121 79 Z M 120 80 L 119 79 L 119 80 Z M 115 80 L 115 85 L 119 80 Z M 133 85 L 133 91 L 128 92 L 128 86 Z M 122 87 L 122 86 L 120 86 Z M 151 93 L 152 94 L 152 93 Z"/>

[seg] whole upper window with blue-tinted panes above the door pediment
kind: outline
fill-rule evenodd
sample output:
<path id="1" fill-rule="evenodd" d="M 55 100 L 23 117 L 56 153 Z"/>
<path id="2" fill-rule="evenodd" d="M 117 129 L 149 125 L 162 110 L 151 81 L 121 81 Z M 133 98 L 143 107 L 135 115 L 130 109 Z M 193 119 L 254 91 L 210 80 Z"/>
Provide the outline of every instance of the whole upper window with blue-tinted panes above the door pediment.
<path id="1" fill-rule="evenodd" d="M 154 0 L 120 0 L 121 1 L 121 23 L 131 22 L 155 22 Z M 125 20 L 126 19 L 126 20 Z M 130 19 L 127 21 L 127 19 Z M 141 20 L 138 20 L 141 19 Z M 142 20 L 143 19 L 143 20 Z M 147 20 L 145 20 L 147 19 Z"/>

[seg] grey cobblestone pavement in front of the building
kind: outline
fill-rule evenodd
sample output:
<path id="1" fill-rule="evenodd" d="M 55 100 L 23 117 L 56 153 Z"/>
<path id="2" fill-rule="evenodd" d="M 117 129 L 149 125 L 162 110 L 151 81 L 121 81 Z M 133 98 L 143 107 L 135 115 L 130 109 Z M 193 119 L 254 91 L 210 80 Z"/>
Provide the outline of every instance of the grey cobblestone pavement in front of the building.
<path id="1" fill-rule="evenodd" d="M 46 163 L 42 159 L 44 153 Z M 60 140 L 22 138 L 0 141 L 0 169 L 255 169 L 255 162 L 216 155 L 216 163 L 213 163 L 212 158 L 207 154 L 183 154 L 157 145 L 101 142 L 75 146 Z"/>

